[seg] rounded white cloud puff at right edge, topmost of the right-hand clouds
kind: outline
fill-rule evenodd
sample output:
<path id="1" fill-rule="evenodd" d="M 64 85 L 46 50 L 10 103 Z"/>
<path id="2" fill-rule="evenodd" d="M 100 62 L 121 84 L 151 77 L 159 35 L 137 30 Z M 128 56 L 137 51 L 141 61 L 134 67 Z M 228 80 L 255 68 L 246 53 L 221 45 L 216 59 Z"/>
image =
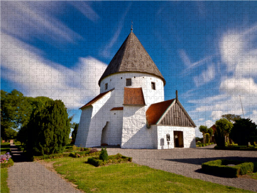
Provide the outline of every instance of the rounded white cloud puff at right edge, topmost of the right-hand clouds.
<path id="1" fill-rule="evenodd" d="M 235 76 L 257 75 L 256 32 L 257 25 L 254 25 L 245 31 L 229 30 L 223 35 L 220 55 L 228 72 Z"/>

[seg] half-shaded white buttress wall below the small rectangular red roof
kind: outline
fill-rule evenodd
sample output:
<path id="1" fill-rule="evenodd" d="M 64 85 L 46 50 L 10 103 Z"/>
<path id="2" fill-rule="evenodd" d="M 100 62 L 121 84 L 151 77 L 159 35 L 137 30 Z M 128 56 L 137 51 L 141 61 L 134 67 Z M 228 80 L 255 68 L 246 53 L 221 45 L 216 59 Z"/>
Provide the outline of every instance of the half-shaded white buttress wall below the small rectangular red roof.
<path id="1" fill-rule="evenodd" d="M 124 106 L 121 148 L 153 149 L 156 134 L 146 127 L 146 106 Z"/>

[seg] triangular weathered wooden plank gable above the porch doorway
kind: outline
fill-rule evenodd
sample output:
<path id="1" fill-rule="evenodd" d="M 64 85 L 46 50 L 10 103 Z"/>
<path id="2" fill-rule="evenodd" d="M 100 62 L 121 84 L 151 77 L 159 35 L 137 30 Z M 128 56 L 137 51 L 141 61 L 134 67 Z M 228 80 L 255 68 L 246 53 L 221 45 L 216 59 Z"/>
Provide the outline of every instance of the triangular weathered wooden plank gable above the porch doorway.
<path id="1" fill-rule="evenodd" d="M 176 103 L 171 105 L 170 108 L 162 115 L 157 125 L 196 127 L 186 110 L 177 100 Z"/>

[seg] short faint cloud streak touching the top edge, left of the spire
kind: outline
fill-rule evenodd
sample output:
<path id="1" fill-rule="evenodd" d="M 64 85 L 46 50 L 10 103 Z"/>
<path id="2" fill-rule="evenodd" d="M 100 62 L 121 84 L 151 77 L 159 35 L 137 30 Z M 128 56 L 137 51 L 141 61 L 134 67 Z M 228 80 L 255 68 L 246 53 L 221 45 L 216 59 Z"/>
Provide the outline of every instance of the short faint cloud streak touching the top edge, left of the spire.
<path id="1" fill-rule="evenodd" d="M 81 12 L 87 19 L 92 22 L 96 22 L 100 19 L 100 16 L 88 5 L 87 2 L 82 1 L 68 1 L 74 8 Z"/>

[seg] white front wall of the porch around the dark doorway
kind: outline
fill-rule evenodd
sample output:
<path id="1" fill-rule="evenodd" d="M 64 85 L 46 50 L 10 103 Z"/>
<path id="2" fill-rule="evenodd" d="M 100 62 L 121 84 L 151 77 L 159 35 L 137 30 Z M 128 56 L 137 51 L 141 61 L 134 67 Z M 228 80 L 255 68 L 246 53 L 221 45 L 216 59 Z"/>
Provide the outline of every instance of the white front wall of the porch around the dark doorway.
<path id="1" fill-rule="evenodd" d="M 151 127 L 157 128 L 158 149 L 174 148 L 174 131 L 183 132 L 184 148 L 196 147 L 195 129 L 192 127 L 174 127 L 174 126 L 162 126 L 162 125 L 152 125 Z M 170 135 L 169 146 L 167 141 L 167 134 Z"/>

